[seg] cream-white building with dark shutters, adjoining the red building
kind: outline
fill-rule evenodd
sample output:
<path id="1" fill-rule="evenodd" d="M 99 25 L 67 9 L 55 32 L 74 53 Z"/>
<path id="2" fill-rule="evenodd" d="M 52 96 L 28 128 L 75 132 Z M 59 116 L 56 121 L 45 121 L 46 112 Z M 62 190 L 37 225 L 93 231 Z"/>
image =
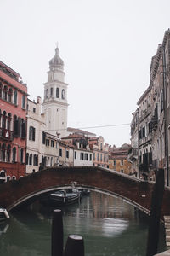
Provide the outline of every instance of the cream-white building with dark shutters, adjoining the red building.
<path id="1" fill-rule="evenodd" d="M 59 166 L 59 137 L 46 131 L 41 97 L 37 97 L 37 102 L 28 99 L 27 130 L 26 174 Z"/>

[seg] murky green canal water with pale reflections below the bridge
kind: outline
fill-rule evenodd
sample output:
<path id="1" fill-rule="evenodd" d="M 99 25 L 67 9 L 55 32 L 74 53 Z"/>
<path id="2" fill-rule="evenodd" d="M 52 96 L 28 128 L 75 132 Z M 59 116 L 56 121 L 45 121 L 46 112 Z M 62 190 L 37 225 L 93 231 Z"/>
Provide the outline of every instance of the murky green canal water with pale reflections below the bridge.
<path id="1" fill-rule="evenodd" d="M 37 201 L 10 213 L 8 222 L 0 224 L 0 255 L 51 256 L 53 210 Z M 145 255 L 148 220 L 122 199 L 91 192 L 63 212 L 65 241 L 70 234 L 83 236 L 86 256 Z M 163 251 L 163 226 L 160 236 Z"/>

